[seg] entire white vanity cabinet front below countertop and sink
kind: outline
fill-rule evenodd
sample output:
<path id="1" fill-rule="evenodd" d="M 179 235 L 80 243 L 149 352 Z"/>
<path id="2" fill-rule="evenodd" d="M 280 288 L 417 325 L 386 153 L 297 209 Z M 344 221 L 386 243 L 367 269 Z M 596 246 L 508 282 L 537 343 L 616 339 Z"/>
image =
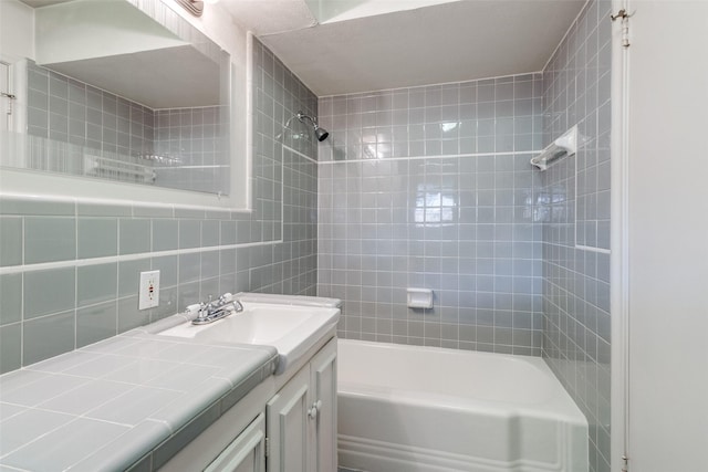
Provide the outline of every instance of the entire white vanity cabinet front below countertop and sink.
<path id="1" fill-rule="evenodd" d="M 160 472 L 336 472 L 336 347 L 262 381 Z"/>

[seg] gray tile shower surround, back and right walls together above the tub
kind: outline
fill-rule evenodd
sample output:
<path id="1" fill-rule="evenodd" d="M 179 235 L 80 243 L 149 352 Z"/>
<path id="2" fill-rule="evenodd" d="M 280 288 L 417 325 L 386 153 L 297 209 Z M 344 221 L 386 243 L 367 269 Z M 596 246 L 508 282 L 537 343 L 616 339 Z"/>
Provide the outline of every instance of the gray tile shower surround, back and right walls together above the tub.
<path id="1" fill-rule="evenodd" d="M 541 74 L 320 98 L 317 290 L 344 338 L 542 355 L 611 460 L 611 2 Z M 579 125 L 575 156 L 528 158 Z M 436 292 L 406 307 L 406 287 Z"/>

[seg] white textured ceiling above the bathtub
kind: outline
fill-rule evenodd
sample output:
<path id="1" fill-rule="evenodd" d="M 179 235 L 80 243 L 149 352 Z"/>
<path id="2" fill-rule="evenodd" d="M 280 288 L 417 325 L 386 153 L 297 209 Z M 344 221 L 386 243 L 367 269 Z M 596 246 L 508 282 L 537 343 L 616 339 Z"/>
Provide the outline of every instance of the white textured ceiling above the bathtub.
<path id="1" fill-rule="evenodd" d="M 304 0 L 222 0 L 317 96 L 538 72 L 584 3 L 460 0 L 317 24 Z"/>

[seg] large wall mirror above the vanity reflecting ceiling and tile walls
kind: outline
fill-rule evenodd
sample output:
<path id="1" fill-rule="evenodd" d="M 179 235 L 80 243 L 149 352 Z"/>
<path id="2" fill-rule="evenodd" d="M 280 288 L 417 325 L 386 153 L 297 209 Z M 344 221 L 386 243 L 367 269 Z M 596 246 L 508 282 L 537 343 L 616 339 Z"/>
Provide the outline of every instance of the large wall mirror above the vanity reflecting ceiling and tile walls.
<path id="1" fill-rule="evenodd" d="M 226 51 L 159 0 L 23 2 L 34 55 L 11 65 L 25 83 L 0 165 L 230 193 Z"/>

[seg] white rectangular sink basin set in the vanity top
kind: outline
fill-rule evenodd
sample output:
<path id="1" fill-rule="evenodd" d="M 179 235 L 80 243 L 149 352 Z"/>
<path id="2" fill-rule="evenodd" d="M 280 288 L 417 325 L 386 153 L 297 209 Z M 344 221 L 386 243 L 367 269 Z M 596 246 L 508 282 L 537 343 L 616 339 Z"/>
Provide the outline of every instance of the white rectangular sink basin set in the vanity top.
<path id="1" fill-rule="evenodd" d="M 241 303 L 242 312 L 211 324 L 186 322 L 156 334 L 207 343 L 273 346 L 279 355 L 278 375 L 334 329 L 340 318 L 340 310 L 335 307 Z"/>

